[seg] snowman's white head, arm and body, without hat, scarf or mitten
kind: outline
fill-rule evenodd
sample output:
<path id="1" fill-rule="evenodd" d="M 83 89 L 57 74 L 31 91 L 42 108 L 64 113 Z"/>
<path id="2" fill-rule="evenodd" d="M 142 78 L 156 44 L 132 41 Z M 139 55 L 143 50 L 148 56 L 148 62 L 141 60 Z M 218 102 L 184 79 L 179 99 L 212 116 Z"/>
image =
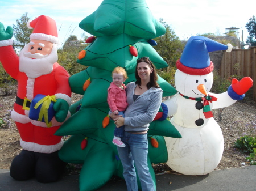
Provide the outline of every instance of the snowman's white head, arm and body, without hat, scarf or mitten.
<path id="1" fill-rule="evenodd" d="M 175 74 L 176 90 L 188 97 L 204 97 L 197 86 L 204 84 L 207 92 L 212 87 L 213 75 L 188 75 L 180 70 Z M 236 100 L 231 99 L 227 92 L 213 94 L 217 101 L 210 103 L 210 108 L 223 108 L 232 105 Z M 185 99 L 179 93 L 164 101 L 168 107 L 168 115 L 172 124 L 179 130 L 182 138 L 165 137 L 168 162 L 174 171 L 185 175 L 205 175 L 212 172 L 220 163 L 224 149 L 224 140 L 220 126 L 213 117 L 206 119 L 203 109 L 196 109 L 197 101 Z M 195 121 L 204 120 L 197 126 Z"/>

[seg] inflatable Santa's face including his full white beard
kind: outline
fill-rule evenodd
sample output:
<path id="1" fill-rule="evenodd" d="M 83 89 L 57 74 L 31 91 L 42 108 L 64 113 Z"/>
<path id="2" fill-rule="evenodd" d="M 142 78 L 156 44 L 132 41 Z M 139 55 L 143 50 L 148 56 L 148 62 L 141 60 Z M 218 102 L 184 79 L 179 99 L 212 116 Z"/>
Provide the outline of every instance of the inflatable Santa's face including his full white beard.
<path id="1" fill-rule="evenodd" d="M 57 44 L 45 40 L 31 40 L 20 52 L 19 70 L 29 78 L 49 74 L 58 60 Z"/>

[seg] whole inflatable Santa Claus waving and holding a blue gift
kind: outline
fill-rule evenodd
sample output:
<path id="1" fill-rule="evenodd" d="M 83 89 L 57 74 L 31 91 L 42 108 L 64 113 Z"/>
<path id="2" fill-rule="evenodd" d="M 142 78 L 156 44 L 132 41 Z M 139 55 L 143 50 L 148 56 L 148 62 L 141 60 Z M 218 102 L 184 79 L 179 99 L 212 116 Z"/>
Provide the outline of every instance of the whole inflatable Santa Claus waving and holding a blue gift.
<path id="1" fill-rule="evenodd" d="M 19 54 L 13 49 L 13 29 L 0 23 L 0 61 L 6 72 L 18 81 L 11 118 L 16 123 L 23 150 L 11 163 L 16 180 L 36 177 L 39 182 L 56 181 L 64 164 L 58 157 L 63 140 L 54 133 L 70 116 L 71 88 L 68 72 L 56 61 L 55 20 L 41 15 L 28 23 L 34 28 Z"/>

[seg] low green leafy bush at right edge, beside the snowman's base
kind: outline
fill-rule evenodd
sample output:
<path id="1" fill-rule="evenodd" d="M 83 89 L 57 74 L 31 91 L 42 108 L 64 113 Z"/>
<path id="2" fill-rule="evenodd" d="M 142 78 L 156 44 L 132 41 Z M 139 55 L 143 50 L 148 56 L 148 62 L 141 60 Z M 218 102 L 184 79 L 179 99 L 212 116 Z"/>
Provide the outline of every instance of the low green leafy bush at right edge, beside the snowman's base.
<path id="1" fill-rule="evenodd" d="M 254 148 L 256 148 L 256 137 L 245 135 L 241 138 L 237 138 L 237 141 L 234 142 L 234 144 L 241 152 L 253 153 Z"/>

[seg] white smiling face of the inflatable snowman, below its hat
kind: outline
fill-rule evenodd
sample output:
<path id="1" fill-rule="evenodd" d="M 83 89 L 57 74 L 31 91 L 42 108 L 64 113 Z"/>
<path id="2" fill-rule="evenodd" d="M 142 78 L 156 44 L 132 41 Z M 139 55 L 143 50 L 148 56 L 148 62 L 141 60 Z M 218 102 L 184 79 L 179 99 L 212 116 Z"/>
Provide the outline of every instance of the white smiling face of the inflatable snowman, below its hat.
<path id="1" fill-rule="evenodd" d="M 185 74 L 179 69 L 175 73 L 175 87 L 178 92 L 188 97 L 203 97 L 204 94 L 200 92 L 199 85 L 203 85 L 207 94 L 212 88 L 213 74 L 206 75 L 189 75 Z"/>

